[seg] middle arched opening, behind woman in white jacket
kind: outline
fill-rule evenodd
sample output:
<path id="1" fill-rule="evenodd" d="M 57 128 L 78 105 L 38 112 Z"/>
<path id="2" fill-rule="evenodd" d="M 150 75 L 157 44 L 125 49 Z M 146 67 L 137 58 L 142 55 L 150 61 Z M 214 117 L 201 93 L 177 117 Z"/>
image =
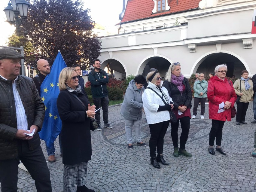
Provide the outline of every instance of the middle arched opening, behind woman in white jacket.
<path id="1" fill-rule="evenodd" d="M 151 56 L 144 61 L 139 66 L 138 74 L 147 76 L 150 68 L 155 68 L 160 73 L 161 77 L 165 77 L 166 72 L 169 69 L 172 61 L 165 56 Z"/>

